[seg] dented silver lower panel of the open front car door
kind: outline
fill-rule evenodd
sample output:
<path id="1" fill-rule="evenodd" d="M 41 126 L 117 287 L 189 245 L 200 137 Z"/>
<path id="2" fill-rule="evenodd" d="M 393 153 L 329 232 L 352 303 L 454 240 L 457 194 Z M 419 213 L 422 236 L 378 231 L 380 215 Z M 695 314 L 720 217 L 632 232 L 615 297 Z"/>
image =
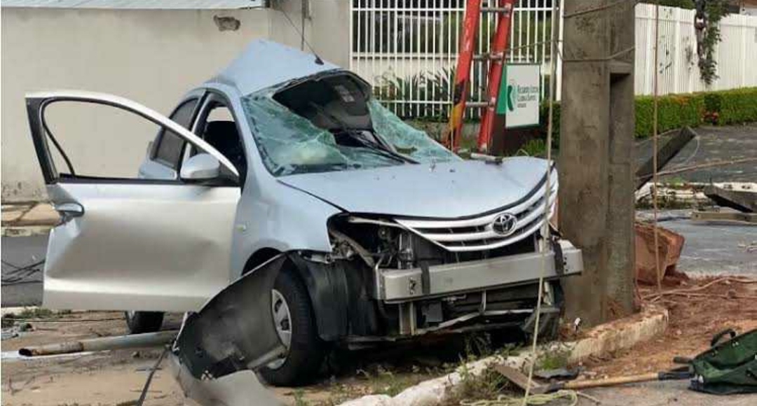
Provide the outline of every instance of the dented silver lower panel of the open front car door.
<path id="1" fill-rule="evenodd" d="M 45 307 L 196 311 L 229 284 L 239 188 L 59 182 L 48 194 L 86 212 L 51 230 Z"/>

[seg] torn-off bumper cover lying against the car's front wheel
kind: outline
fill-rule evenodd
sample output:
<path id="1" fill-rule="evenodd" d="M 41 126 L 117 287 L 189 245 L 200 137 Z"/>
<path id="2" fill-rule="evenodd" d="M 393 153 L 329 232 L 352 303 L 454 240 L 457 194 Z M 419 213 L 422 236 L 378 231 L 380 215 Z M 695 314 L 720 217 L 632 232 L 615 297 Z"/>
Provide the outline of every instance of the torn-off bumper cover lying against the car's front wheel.
<path id="1" fill-rule="evenodd" d="M 278 404 L 253 370 L 285 350 L 270 311 L 274 280 L 287 261 L 275 256 L 188 314 L 169 355 L 173 375 L 199 404 Z"/>

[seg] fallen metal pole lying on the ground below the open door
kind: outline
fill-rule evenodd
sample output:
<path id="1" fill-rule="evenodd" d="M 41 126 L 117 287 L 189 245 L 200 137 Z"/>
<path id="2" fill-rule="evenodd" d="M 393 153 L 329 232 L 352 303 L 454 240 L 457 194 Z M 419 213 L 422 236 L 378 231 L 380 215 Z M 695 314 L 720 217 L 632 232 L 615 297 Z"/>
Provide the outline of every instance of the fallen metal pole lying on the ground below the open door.
<path id="1" fill-rule="evenodd" d="M 24 357 L 37 355 L 71 354 L 73 352 L 106 351 L 110 349 L 136 349 L 163 346 L 176 338 L 179 330 L 158 331 L 157 333 L 129 334 L 126 336 L 80 339 L 45 346 L 25 347 L 18 350 Z"/>

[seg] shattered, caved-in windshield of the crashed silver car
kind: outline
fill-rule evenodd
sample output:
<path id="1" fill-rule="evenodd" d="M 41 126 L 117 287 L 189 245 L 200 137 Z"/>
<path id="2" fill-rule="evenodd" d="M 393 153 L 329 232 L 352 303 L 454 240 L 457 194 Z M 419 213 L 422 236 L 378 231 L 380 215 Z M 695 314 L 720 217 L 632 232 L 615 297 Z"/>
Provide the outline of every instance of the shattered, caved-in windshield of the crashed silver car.
<path id="1" fill-rule="evenodd" d="M 353 98 L 347 88 L 334 87 L 339 103 L 320 100 L 324 92 L 312 88 L 306 88 L 315 95 L 312 100 L 303 98 L 302 91 L 282 97 L 263 91 L 241 99 L 260 156 L 273 175 L 459 160 L 378 101 Z"/>

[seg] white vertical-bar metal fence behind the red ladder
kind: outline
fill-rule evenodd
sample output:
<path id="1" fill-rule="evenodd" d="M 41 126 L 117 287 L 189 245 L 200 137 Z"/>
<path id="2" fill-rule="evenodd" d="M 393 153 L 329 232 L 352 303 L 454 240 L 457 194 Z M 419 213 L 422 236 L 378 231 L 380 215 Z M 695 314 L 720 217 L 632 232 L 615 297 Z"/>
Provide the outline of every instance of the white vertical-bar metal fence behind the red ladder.
<path id="1" fill-rule="evenodd" d="M 482 0 L 484 5 L 496 0 Z M 508 63 L 550 63 L 552 2 L 520 0 L 512 16 Z M 352 0 L 350 70 L 368 80 L 375 97 L 402 117 L 447 117 L 466 0 Z M 486 53 L 497 28 L 481 17 L 478 53 Z M 469 100 L 481 100 L 487 62 L 472 68 Z M 558 70 L 559 71 L 559 70 Z M 542 85 L 542 97 L 546 85 Z M 478 117 L 478 109 L 468 112 Z"/>

